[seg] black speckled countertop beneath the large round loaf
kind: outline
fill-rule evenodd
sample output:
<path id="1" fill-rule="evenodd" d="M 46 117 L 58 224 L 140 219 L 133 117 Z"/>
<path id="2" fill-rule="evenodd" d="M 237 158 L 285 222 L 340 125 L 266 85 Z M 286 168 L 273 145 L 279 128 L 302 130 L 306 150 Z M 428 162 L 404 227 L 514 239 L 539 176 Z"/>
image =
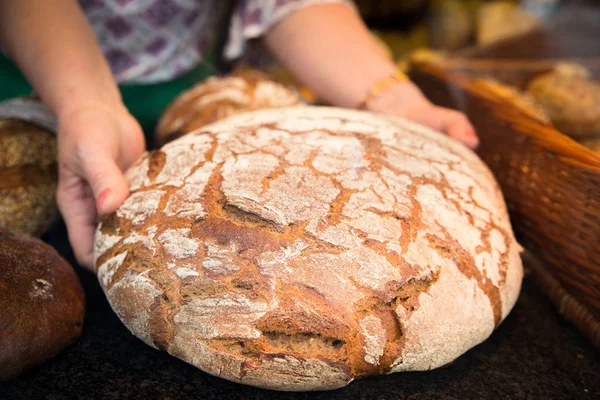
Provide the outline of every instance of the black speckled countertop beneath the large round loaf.
<path id="1" fill-rule="evenodd" d="M 47 239 L 74 263 L 63 226 Z M 531 278 L 498 330 L 449 367 L 364 378 L 331 392 L 281 393 L 213 377 L 145 345 L 113 314 L 96 278 L 78 273 L 88 303 L 82 337 L 0 384 L 0 399 L 600 399 L 600 352 Z"/>

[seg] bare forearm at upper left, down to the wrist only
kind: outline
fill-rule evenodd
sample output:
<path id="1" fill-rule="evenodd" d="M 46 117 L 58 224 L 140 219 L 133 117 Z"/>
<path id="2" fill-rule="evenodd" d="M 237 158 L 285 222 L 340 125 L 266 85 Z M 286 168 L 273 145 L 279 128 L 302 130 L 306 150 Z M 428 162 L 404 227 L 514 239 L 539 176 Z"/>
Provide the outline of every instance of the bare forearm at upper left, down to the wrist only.
<path id="1" fill-rule="evenodd" d="M 57 114 L 119 104 L 120 94 L 75 0 L 0 0 L 0 43 Z"/>

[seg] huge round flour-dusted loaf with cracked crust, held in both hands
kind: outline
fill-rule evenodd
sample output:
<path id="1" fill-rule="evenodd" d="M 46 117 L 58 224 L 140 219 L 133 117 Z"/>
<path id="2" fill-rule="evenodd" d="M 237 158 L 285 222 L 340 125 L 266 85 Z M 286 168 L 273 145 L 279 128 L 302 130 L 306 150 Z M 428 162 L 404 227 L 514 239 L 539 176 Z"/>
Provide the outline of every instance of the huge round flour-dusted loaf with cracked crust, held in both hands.
<path id="1" fill-rule="evenodd" d="M 520 246 L 474 153 L 312 106 L 205 126 L 141 158 L 99 225 L 115 312 L 235 382 L 323 390 L 443 366 L 513 307 Z"/>

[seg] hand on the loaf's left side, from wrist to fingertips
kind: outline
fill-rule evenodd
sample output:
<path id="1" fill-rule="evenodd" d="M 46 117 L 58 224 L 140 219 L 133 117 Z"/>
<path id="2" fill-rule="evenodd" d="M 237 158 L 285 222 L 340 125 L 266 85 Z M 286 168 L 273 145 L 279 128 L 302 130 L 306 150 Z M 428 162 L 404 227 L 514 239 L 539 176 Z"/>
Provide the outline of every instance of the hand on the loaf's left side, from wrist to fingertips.
<path id="1" fill-rule="evenodd" d="M 144 148 L 139 124 L 122 105 L 81 105 L 59 116 L 57 202 L 81 265 L 93 268 L 97 217 L 128 196 L 122 171 Z"/>

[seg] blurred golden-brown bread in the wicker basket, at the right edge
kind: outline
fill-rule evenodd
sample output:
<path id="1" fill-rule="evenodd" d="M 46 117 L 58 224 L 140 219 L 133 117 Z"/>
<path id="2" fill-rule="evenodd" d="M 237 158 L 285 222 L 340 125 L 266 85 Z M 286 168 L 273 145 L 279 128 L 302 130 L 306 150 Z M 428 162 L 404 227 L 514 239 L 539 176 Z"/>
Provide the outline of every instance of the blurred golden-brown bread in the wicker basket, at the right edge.
<path id="1" fill-rule="evenodd" d="M 568 65 L 531 81 L 528 92 L 561 132 L 583 139 L 600 136 L 600 83 Z"/>

